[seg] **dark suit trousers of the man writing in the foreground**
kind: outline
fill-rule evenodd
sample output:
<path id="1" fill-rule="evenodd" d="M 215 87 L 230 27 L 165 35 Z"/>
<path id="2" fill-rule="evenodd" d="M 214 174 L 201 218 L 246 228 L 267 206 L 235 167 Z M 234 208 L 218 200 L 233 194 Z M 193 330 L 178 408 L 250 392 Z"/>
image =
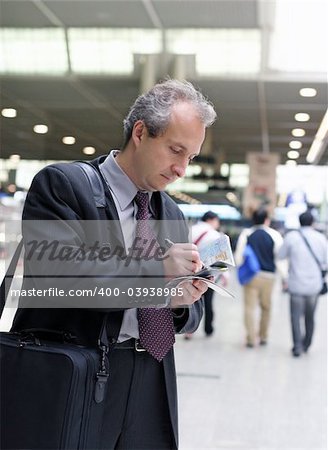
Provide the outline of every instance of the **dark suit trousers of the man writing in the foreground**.
<path id="1" fill-rule="evenodd" d="M 147 352 L 114 349 L 109 371 L 101 449 L 176 449 L 163 364 Z"/>

